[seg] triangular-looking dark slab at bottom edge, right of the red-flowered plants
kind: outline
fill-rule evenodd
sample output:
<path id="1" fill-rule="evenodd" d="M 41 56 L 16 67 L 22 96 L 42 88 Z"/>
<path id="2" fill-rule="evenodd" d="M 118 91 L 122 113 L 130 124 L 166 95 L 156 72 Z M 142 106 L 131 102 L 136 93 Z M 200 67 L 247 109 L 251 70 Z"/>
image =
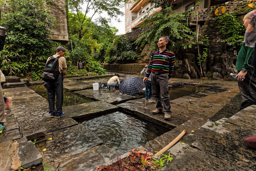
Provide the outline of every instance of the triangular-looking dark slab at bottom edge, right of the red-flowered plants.
<path id="1" fill-rule="evenodd" d="M 176 156 L 172 162 L 169 162 L 161 171 L 246 171 L 237 165 L 225 162 L 218 157 L 212 156 L 206 152 L 194 148 L 188 148 L 180 155 Z"/>

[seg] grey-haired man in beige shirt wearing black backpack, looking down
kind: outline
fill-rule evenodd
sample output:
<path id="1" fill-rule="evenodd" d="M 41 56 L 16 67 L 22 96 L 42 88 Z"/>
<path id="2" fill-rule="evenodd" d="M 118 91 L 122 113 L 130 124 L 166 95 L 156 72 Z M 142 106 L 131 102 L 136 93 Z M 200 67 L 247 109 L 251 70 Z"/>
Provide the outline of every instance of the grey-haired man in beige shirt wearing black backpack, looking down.
<path id="1" fill-rule="evenodd" d="M 47 85 L 50 117 L 58 118 L 65 115 L 65 112 L 62 112 L 63 74 L 67 72 L 66 59 L 63 57 L 65 52 L 66 49 L 63 46 L 59 46 L 56 49 L 56 54 L 47 59 L 43 72 L 43 80 Z M 54 106 L 55 94 L 56 109 Z"/>

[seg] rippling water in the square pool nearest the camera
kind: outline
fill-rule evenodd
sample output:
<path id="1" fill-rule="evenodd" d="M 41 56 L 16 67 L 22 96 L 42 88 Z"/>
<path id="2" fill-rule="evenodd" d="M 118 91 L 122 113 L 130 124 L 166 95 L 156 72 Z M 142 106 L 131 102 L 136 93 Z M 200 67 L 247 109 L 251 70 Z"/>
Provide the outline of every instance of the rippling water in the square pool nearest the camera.
<path id="1" fill-rule="evenodd" d="M 170 130 L 122 112 L 109 113 L 82 124 L 118 153 L 131 151 Z"/>

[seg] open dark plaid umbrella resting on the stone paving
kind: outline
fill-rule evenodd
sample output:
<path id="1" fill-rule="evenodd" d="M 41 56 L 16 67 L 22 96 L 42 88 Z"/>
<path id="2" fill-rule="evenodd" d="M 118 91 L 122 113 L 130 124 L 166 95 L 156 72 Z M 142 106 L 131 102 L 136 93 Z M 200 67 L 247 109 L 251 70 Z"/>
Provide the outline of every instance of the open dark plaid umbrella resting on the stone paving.
<path id="1" fill-rule="evenodd" d="M 138 77 L 129 77 L 125 78 L 122 83 L 119 85 L 119 91 L 122 94 L 133 95 L 136 93 L 140 93 L 141 90 L 145 87 L 145 84 Z"/>

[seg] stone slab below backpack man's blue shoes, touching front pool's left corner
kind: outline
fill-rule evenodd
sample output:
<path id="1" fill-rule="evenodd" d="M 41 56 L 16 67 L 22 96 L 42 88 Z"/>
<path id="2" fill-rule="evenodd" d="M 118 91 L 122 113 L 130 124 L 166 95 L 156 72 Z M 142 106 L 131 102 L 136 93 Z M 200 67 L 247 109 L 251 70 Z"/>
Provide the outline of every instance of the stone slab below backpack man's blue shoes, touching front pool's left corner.
<path id="1" fill-rule="evenodd" d="M 54 121 L 45 122 L 45 123 L 42 123 L 42 126 L 46 129 L 47 133 L 49 133 L 49 132 L 57 131 L 59 129 L 63 129 L 66 127 L 71 127 L 77 124 L 78 123 L 72 118 L 66 118 L 62 120 L 57 119 Z"/>

